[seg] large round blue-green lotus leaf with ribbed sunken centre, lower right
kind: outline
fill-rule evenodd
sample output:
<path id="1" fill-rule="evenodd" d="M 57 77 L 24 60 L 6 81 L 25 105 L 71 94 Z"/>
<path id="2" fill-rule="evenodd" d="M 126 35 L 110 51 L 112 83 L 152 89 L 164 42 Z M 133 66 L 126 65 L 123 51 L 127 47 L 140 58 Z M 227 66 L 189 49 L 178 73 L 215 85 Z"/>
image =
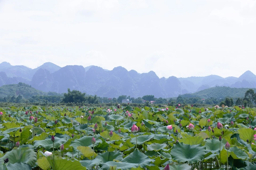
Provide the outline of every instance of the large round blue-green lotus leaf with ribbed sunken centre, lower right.
<path id="1" fill-rule="evenodd" d="M 206 147 L 201 145 L 186 145 L 177 143 L 171 149 L 171 157 L 179 163 L 196 163 L 201 161 L 206 154 Z"/>

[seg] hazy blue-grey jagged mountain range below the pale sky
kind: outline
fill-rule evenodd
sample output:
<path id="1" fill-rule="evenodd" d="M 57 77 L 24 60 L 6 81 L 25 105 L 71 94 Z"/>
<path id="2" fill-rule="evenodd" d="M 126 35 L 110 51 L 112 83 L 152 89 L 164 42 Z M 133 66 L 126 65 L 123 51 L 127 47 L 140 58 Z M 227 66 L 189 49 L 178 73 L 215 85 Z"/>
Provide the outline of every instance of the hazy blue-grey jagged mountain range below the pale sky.
<path id="1" fill-rule="evenodd" d="M 238 78 L 222 78 L 217 75 L 159 78 L 154 71 L 139 74 L 135 70 L 127 71 L 121 66 L 113 70 L 104 70 L 98 66 L 59 67 L 47 62 L 36 69 L 30 69 L 26 66 L 12 66 L 10 63 L 2 62 L 0 86 L 19 82 L 30 84 L 44 92 L 64 93 L 70 88 L 101 97 L 154 95 L 157 98 L 166 98 L 215 86 L 256 88 L 256 75 L 246 71 Z"/>

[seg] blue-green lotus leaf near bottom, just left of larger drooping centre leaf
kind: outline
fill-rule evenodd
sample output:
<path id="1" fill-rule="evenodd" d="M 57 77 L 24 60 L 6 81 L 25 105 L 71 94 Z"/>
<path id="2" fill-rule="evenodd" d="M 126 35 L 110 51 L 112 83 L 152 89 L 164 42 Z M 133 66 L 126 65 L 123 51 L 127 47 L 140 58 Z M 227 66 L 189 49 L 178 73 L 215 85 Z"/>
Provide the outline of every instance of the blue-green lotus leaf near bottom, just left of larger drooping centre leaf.
<path id="1" fill-rule="evenodd" d="M 122 153 L 118 152 L 104 152 L 99 154 L 95 159 L 100 159 L 101 163 L 112 162 L 113 160 L 121 161 L 123 159 Z"/>

